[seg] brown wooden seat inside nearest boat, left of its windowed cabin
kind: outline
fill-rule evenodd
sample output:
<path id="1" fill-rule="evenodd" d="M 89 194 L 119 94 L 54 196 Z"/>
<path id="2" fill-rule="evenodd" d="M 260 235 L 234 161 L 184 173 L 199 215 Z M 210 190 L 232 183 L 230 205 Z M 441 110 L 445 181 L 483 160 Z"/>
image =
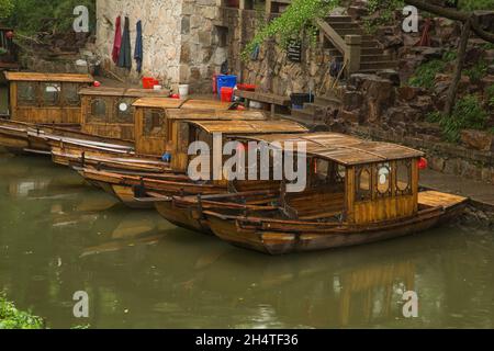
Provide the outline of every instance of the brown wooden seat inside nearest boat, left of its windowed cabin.
<path id="1" fill-rule="evenodd" d="M 287 203 L 296 212 L 299 219 L 329 218 L 343 213 L 345 193 L 317 189 L 300 194 L 288 194 Z"/>

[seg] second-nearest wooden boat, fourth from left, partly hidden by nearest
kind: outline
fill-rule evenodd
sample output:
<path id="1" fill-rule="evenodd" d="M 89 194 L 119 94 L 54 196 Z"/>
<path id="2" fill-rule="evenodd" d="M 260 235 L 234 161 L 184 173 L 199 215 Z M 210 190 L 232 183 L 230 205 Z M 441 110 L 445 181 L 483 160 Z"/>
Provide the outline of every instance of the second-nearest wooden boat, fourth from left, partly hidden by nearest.
<path id="1" fill-rule="evenodd" d="M 255 116 L 255 115 L 252 115 Z M 168 144 L 171 162 L 169 169 L 161 173 L 111 172 L 89 167 L 75 167 L 79 173 L 108 193 L 116 196 L 130 207 L 153 207 L 154 200 L 135 199 L 135 194 L 145 197 L 146 192 L 153 192 L 158 197 L 189 194 L 217 194 L 227 191 L 225 181 L 192 181 L 188 177 L 188 168 L 193 159 L 188 155 L 189 145 L 197 140 L 207 140 L 212 146 L 213 133 L 222 133 L 223 141 L 235 139 L 235 135 L 259 133 L 301 133 L 305 127 L 290 121 L 233 120 L 233 121 L 181 121 L 181 133 L 172 137 Z M 212 179 L 212 178 L 211 178 Z M 245 182 L 243 186 L 250 189 L 267 188 L 266 182 Z M 245 188 L 242 188 L 245 189 Z M 170 199 L 171 197 L 166 197 Z M 173 219 L 171 219 L 173 222 Z"/>

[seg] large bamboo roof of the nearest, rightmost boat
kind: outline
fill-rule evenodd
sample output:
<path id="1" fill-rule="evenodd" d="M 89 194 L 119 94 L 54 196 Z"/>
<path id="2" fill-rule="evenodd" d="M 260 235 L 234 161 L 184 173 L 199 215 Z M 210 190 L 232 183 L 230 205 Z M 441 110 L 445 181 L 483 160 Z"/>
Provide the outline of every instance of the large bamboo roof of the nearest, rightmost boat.
<path id="1" fill-rule="evenodd" d="M 367 141 L 338 133 L 311 133 L 297 135 L 258 135 L 246 139 L 279 143 L 306 143 L 307 155 L 328 159 L 344 166 L 358 166 L 393 160 L 419 158 L 424 152 L 397 144 Z M 296 147 L 295 147 L 296 149 Z"/>

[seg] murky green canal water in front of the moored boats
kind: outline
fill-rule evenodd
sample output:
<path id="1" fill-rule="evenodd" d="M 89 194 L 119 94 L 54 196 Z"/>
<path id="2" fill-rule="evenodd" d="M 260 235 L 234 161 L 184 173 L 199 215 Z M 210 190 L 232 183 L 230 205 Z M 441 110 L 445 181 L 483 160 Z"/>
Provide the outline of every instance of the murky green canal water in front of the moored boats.
<path id="1" fill-rule="evenodd" d="M 267 257 L 0 151 L 0 291 L 50 328 L 494 328 L 494 234 L 453 224 Z M 72 296 L 89 294 L 88 319 Z M 402 296 L 418 294 L 418 317 Z"/>

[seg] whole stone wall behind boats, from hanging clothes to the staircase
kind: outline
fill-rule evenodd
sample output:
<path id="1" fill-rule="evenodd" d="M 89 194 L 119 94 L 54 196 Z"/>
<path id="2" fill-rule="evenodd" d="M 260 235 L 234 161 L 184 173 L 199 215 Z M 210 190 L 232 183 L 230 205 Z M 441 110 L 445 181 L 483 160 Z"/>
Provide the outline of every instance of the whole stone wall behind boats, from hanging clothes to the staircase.
<path id="1" fill-rule="evenodd" d="M 135 24 L 143 21 L 143 75 L 134 68 L 120 69 L 111 60 L 115 19 L 128 15 L 131 43 L 135 45 Z M 212 77 L 227 61 L 239 81 L 259 86 L 265 91 L 289 95 L 292 92 L 324 92 L 330 57 L 321 46 L 303 43 L 302 63 L 291 63 L 274 43 L 262 45 L 257 60 L 243 63 L 240 53 L 260 26 L 256 11 L 217 7 L 216 0 L 98 0 L 96 52 L 103 67 L 137 82 L 153 76 L 177 89 L 190 84 L 195 93 L 212 90 Z M 321 89 L 323 88 L 323 89 Z"/>

